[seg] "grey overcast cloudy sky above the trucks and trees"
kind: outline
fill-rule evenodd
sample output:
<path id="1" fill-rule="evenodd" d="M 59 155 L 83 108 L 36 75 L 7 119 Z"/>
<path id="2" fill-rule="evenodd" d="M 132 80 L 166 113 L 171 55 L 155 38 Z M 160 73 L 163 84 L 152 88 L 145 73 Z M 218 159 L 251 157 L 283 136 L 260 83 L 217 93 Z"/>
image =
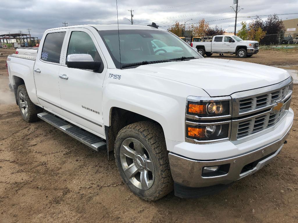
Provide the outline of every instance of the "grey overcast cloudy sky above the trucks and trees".
<path id="1" fill-rule="evenodd" d="M 235 12 L 233 0 L 118 0 L 119 24 L 130 24 L 129 9 L 134 10 L 134 24 L 157 23 L 167 29 L 175 21 L 197 23 L 201 18 L 211 26 L 221 26 L 233 32 Z M 249 22 L 247 16 L 298 13 L 298 0 L 239 0 L 237 23 Z M 8 0 L 0 5 L 0 34 L 28 33 L 42 37 L 46 29 L 81 24 L 117 24 L 116 0 Z M 298 18 L 298 14 L 279 15 L 283 20 Z M 126 19 L 126 18 L 128 19 Z M 267 16 L 262 16 L 266 19 Z M 187 25 L 186 25 L 187 27 Z M 237 30 L 241 28 L 238 24 Z M 295 27 L 292 27 L 295 28 Z"/>

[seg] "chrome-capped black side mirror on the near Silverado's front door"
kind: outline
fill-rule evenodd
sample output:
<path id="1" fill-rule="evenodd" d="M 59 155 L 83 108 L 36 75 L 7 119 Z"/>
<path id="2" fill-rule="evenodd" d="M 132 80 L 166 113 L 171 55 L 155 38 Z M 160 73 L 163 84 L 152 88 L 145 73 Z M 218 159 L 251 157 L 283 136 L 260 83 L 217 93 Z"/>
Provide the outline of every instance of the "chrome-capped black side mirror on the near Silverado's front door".
<path id="1" fill-rule="evenodd" d="M 99 70 L 100 61 L 93 61 L 90 54 L 69 54 L 66 58 L 66 66 L 70 68 Z"/>

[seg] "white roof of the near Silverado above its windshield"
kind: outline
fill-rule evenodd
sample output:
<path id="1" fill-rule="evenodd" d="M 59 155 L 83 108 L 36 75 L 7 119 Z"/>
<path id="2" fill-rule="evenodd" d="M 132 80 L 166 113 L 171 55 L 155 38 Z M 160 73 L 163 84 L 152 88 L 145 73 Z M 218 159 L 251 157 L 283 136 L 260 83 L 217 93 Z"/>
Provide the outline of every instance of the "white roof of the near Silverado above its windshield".
<path id="1" fill-rule="evenodd" d="M 53 28 L 53 29 L 47 29 L 48 30 L 56 30 L 56 29 L 67 29 L 67 28 L 86 28 L 86 27 L 94 27 L 95 29 L 97 29 L 98 31 L 100 30 L 115 30 L 118 29 L 118 25 L 114 24 L 114 25 L 78 25 L 78 26 L 63 26 L 63 27 L 59 27 L 59 28 Z M 151 27 L 151 26 L 139 26 L 139 25 L 119 25 L 119 29 L 153 29 L 156 30 L 156 28 Z M 159 28 L 159 30 L 163 30 Z"/>

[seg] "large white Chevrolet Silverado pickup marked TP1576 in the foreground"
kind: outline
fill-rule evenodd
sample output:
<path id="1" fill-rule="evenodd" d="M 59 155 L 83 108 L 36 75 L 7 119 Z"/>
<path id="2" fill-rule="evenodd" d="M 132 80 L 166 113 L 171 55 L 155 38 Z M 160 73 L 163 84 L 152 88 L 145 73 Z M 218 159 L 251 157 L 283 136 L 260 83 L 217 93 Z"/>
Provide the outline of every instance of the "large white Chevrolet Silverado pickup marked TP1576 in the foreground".
<path id="1" fill-rule="evenodd" d="M 25 121 L 114 151 L 124 183 L 145 200 L 173 189 L 199 197 L 258 171 L 293 123 L 287 71 L 203 58 L 155 25 L 49 29 L 36 57 L 12 54 L 7 65 Z"/>

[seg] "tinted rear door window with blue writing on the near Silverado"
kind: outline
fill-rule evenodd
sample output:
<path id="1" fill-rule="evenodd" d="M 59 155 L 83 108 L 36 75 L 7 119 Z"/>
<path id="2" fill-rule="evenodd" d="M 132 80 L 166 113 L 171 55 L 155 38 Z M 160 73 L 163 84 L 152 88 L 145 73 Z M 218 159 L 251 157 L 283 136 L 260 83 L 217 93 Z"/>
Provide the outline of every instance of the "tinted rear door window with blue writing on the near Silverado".
<path id="1" fill-rule="evenodd" d="M 66 32 L 53 32 L 46 35 L 41 51 L 41 59 L 47 62 L 59 63 L 61 48 Z"/>

